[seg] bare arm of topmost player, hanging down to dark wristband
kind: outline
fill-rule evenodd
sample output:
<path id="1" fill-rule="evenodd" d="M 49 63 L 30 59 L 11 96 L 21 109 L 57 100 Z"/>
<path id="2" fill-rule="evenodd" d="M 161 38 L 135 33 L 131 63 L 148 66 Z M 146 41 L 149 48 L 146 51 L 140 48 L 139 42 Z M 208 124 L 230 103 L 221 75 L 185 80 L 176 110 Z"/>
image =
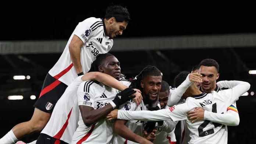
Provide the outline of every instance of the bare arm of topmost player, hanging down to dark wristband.
<path id="1" fill-rule="evenodd" d="M 74 43 L 73 45 L 69 45 L 69 51 L 70 51 L 70 58 L 74 65 L 75 71 L 77 73 L 83 72 L 82 64 L 80 60 L 80 53 L 81 53 L 80 46 L 78 46 L 76 43 Z"/>

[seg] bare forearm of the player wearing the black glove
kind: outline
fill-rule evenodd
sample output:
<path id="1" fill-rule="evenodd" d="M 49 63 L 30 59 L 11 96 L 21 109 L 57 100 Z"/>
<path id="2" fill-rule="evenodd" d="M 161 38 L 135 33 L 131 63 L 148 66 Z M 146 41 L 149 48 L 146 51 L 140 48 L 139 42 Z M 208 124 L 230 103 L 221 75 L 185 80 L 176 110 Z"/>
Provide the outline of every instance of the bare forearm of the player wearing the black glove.
<path id="1" fill-rule="evenodd" d="M 107 104 L 106 106 L 96 110 L 81 111 L 80 109 L 83 122 L 85 123 L 86 126 L 92 125 L 93 123 L 99 121 L 100 119 L 105 118 L 106 115 L 109 114 L 110 111 L 112 110 L 113 110 L 113 107 L 110 104 Z"/>

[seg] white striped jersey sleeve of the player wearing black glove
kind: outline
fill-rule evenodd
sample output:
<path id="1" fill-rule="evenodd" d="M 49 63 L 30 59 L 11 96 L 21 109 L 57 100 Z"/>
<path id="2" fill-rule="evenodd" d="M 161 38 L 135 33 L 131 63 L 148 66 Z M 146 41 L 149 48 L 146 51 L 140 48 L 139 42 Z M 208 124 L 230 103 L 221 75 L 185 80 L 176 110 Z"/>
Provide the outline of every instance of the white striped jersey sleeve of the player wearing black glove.
<path id="1" fill-rule="evenodd" d="M 77 91 L 78 106 L 90 106 L 94 108 L 95 92 L 93 91 L 92 81 L 85 81 L 80 84 Z"/>

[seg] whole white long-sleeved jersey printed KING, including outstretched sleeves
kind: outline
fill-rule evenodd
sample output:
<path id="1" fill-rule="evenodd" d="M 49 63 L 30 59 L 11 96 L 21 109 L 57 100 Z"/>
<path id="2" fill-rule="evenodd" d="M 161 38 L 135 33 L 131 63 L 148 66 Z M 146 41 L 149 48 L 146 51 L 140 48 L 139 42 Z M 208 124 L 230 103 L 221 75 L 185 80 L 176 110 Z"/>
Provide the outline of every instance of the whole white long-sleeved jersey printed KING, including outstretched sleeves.
<path id="1" fill-rule="evenodd" d="M 249 90 L 250 84 L 240 81 L 222 81 L 223 83 L 234 83 L 235 87 L 213 91 L 210 94 L 202 93 L 188 97 L 185 103 L 177 104 L 170 109 L 158 111 L 118 111 L 118 119 L 123 120 L 185 120 L 188 124 L 191 140 L 189 143 L 227 143 L 227 129 L 222 124 L 211 121 L 198 121 L 191 123 L 187 119 L 187 113 L 195 107 L 202 107 L 213 113 L 227 113 L 227 107 L 238 100 L 244 92 Z"/>

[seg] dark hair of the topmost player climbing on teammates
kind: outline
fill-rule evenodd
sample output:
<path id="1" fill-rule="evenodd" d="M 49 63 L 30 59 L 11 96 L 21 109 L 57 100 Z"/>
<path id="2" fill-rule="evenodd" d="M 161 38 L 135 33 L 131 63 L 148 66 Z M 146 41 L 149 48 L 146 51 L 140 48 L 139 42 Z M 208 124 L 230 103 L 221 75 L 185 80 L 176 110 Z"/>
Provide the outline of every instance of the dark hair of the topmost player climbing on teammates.
<path id="1" fill-rule="evenodd" d="M 121 5 L 111 5 L 107 7 L 106 10 L 106 19 L 110 19 L 115 17 L 117 22 L 129 22 L 131 20 L 130 14 L 126 7 L 122 7 Z"/>

